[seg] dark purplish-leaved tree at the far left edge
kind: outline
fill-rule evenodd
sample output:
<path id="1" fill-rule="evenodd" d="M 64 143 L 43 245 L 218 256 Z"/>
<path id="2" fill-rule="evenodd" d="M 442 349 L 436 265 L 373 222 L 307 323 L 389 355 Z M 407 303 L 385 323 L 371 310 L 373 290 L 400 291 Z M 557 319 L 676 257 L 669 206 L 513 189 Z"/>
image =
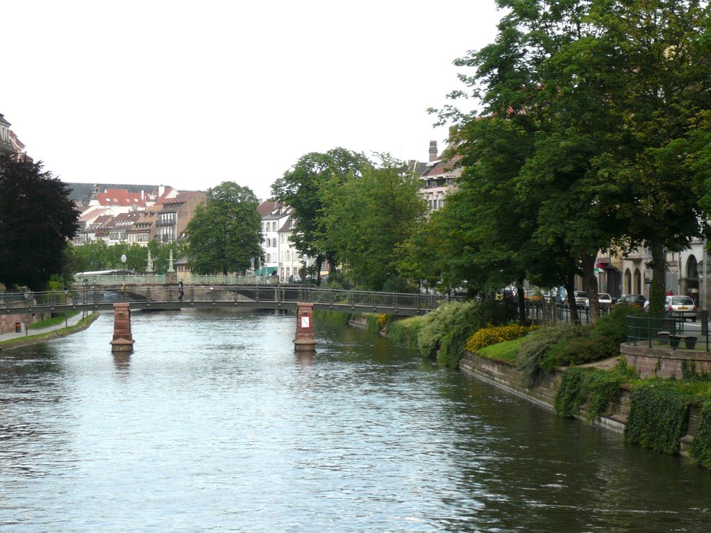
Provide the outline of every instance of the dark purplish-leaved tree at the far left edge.
<path id="1" fill-rule="evenodd" d="M 62 274 L 78 211 L 42 163 L 0 156 L 0 282 L 43 290 Z"/>

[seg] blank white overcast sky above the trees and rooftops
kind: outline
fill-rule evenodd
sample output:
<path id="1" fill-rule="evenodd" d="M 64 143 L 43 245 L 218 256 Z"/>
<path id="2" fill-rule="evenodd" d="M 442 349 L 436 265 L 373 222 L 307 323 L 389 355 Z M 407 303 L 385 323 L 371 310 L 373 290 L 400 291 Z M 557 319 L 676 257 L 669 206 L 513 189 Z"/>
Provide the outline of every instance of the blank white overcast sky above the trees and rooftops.
<path id="1" fill-rule="evenodd" d="M 496 36 L 494 0 L 20 0 L 0 9 L 0 113 L 63 181 L 260 198 L 336 146 L 427 161 L 427 107 Z"/>

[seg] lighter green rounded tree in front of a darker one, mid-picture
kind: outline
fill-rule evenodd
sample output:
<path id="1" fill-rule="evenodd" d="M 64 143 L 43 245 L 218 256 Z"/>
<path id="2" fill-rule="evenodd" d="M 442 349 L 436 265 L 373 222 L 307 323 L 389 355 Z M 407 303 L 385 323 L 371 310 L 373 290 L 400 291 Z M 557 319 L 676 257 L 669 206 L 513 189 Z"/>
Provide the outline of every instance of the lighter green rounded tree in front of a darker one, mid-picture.
<path id="1" fill-rule="evenodd" d="M 348 276 L 359 286 L 380 290 L 400 276 L 398 245 L 407 241 L 424 215 L 419 178 L 405 165 L 383 155 L 379 168 L 323 188 L 324 232 L 317 245 L 333 249 Z"/>

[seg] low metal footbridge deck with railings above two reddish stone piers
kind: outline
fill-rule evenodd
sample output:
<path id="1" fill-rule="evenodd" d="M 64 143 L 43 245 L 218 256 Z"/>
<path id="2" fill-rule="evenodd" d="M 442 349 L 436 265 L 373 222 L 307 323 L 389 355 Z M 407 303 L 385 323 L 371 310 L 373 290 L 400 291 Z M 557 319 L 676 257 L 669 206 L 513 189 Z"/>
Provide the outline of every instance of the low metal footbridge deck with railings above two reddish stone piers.
<path id="1" fill-rule="evenodd" d="M 377 291 L 346 291 L 297 285 L 198 285 L 186 286 L 182 301 L 171 285 L 83 286 L 68 291 L 1 293 L 0 314 L 111 311 L 126 302 L 134 310 L 181 308 L 293 309 L 312 303 L 314 310 L 424 315 L 451 296 Z"/>

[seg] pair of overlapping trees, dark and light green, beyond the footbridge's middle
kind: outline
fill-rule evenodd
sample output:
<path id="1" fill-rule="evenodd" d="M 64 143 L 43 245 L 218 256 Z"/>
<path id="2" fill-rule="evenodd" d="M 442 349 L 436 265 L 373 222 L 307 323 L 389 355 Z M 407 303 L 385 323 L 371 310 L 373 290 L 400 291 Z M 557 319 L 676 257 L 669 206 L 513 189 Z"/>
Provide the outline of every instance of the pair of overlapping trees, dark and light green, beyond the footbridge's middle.
<path id="1" fill-rule="evenodd" d="M 419 178 L 402 162 L 379 154 L 336 148 L 302 156 L 272 185 L 274 198 L 291 205 L 299 219 L 293 240 L 299 253 L 326 259 L 333 269 L 365 289 L 400 290 L 402 242 L 425 212 Z"/>

